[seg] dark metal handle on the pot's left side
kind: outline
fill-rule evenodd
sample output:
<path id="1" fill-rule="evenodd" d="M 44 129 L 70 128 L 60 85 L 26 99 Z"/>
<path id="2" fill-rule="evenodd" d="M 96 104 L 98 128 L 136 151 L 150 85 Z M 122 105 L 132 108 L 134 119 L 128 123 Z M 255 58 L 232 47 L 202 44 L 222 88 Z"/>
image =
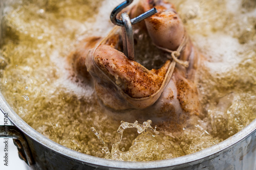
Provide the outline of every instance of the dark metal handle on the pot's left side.
<path id="1" fill-rule="evenodd" d="M 15 126 L 0 126 L 0 137 L 13 138 L 13 143 L 18 149 L 18 156 L 29 166 L 33 164 L 32 154 L 24 134 Z"/>

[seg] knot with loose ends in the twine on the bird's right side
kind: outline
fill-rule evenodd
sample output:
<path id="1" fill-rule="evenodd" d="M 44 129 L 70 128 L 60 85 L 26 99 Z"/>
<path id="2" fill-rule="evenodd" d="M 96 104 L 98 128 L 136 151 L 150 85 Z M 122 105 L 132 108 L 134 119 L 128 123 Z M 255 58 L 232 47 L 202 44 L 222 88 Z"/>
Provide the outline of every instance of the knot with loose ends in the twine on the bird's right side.
<path id="1" fill-rule="evenodd" d="M 171 54 L 171 56 L 167 55 L 168 58 L 173 58 L 173 60 L 181 65 L 183 65 L 184 67 L 188 67 L 188 61 L 183 61 L 178 59 L 178 57 L 180 56 L 180 52 L 182 51 L 183 47 L 186 45 L 187 43 L 187 36 L 185 36 L 180 44 L 180 46 L 178 47 L 178 49 L 176 51 L 172 51 L 169 50 L 167 48 L 163 48 L 161 46 L 157 46 L 159 49 L 168 52 Z"/>

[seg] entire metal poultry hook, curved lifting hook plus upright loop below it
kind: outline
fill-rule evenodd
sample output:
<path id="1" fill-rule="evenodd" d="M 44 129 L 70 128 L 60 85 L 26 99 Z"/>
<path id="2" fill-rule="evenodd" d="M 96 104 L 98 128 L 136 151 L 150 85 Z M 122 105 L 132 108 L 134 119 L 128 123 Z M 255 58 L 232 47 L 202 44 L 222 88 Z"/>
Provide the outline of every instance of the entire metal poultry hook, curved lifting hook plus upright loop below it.
<path id="1" fill-rule="evenodd" d="M 154 15 L 157 13 L 157 9 L 153 8 L 151 10 L 146 11 L 145 13 L 130 19 L 129 15 L 126 13 L 121 14 L 121 18 L 117 19 L 116 15 L 121 12 L 125 7 L 129 6 L 133 0 L 126 0 L 119 6 L 117 6 L 110 15 L 110 20 L 114 23 L 114 25 L 122 27 L 122 41 L 123 41 L 123 51 L 124 55 L 131 60 L 135 59 L 134 54 L 134 37 L 133 37 L 133 27 L 132 25 L 142 21 L 143 19 Z"/>

